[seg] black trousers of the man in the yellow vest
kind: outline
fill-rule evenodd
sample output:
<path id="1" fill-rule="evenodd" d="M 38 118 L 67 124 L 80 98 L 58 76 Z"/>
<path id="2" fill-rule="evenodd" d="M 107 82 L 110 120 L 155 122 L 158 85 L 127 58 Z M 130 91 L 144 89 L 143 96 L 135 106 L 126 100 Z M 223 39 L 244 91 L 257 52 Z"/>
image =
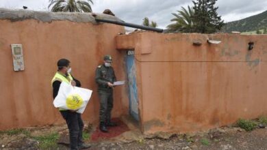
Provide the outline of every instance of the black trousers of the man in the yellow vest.
<path id="1" fill-rule="evenodd" d="M 81 114 L 71 112 L 70 110 L 61 110 L 60 113 L 68 125 L 71 149 L 76 150 L 83 144 L 82 131 L 84 129 L 84 122 L 81 119 Z"/>

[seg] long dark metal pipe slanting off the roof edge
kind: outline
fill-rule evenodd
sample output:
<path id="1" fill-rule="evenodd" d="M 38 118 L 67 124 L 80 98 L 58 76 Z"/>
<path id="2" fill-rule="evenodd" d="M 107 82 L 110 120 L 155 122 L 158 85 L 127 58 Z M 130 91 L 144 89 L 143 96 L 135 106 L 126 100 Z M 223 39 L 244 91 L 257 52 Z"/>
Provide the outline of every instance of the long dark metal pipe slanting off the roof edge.
<path id="1" fill-rule="evenodd" d="M 160 32 L 160 33 L 163 32 L 163 29 L 159 29 L 159 28 L 155 28 L 155 27 L 147 27 L 144 25 L 136 25 L 133 23 L 125 23 L 122 21 L 100 19 L 100 18 L 96 18 L 96 17 L 94 17 L 94 20 L 96 20 L 97 22 L 112 23 L 115 25 L 122 25 L 122 26 L 126 26 L 126 27 L 133 27 L 133 28 L 143 29 L 143 30 L 148 30 L 148 31 L 156 31 L 156 32 Z"/>

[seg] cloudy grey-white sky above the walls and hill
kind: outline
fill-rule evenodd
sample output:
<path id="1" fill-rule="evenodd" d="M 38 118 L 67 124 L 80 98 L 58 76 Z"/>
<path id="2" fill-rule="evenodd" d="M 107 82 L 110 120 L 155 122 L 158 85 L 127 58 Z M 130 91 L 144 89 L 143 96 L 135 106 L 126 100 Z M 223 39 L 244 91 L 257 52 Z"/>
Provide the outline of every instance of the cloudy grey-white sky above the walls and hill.
<path id="1" fill-rule="evenodd" d="M 93 12 L 110 9 L 118 18 L 128 23 L 142 24 L 144 17 L 155 21 L 160 28 L 169 25 L 173 18 L 171 13 L 187 5 L 192 0 L 92 0 Z M 49 0 L 0 0 L 0 7 L 21 9 L 23 5 L 29 10 L 47 10 Z M 218 0 L 218 14 L 225 22 L 239 20 L 267 10 L 267 0 Z"/>

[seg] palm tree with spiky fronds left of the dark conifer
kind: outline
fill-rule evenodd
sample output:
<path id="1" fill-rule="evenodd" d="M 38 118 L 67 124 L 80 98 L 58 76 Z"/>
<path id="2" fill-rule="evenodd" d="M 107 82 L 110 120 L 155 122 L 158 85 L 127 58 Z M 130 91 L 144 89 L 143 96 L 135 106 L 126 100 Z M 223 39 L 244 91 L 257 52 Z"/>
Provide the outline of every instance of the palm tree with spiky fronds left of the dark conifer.
<path id="1" fill-rule="evenodd" d="M 192 7 L 188 5 L 188 10 L 186 8 L 181 7 L 181 10 L 177 11 L 178 13 L 172 13 L 175 18 L 170 21 L 175 23 L 170 24 L 167 26 L 170 32 L 194 32 L 194 20 L 192 16 L 194 15 L 194 10 Z"/>

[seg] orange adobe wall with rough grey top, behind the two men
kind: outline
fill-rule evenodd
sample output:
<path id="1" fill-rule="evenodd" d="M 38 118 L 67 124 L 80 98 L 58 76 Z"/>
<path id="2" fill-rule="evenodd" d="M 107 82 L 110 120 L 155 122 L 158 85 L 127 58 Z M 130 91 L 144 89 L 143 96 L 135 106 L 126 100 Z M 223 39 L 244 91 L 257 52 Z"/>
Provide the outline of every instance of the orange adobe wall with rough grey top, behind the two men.
<path id="1" fill-rule="evenodd" d="M 115 36 L 124 32 L 120 26 L 95 23 L 89 13 L 0 9 L 0 130 L 64 122 L 53 107 L 51 88 L 61 58 L 71 61 L 72 74 L 82 87 L 93 90 L 83 119 L 97 123 L 99 98 L 94 72 L 103 63 L 103 55 L 110 54 L 118 80 L 125 80 L 125 52 L 116 50 L 115 44 Z M 24 71 L 14 72 L 10 44 L 23 44 Z M 127 114 L 128 107 L 127 90 L 116 87 L 113 116 Z"/>

